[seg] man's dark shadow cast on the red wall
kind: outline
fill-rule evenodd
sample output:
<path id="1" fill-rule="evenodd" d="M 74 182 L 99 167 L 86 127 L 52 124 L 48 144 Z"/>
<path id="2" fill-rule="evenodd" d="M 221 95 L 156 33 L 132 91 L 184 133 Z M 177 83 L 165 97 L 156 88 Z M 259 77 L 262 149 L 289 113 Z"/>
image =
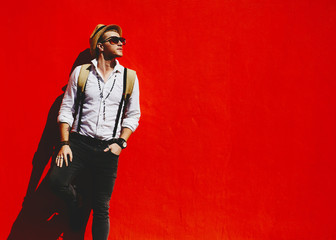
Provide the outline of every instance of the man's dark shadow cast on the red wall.
<path id="1" fill-rule="evenodd" d="M 81 64 L 90 62 L 90 50 L 81 52 L 74 62 L 72 70 Z M 62 88 L 65 91 L 66 86 Z M 88 197 L 90 192 L 88 185 L 90 179 L 84 172 L 74 181 L 78 189 L 84 195 L 85 224 L 79 231 L 71 231 L 68 227 L 68 216 L 65 204 L 52 192 L 48 184 L 50 169 L 55 162 L 58 151 L 59 128 L 57 115 L 62 103 L 63 94 L 58 96 L 52 104 L 44 127 L 38 148 L 33 157 L 33 169 L 29 179 L 26 196 L 22 203 L 22 209 L 12 225 L 8 240 L 82 240 L 84 239 L 86 223 L 91 212 L 91 203 Z M 50 168 L 44 179 L 41 179 L 51 159 Z M 42 181 L 41 181 L 42 180 Z M 39 182 L 41 182 L 39 184 Z M 81 186 L 86 186 L 83 188 Z"/>

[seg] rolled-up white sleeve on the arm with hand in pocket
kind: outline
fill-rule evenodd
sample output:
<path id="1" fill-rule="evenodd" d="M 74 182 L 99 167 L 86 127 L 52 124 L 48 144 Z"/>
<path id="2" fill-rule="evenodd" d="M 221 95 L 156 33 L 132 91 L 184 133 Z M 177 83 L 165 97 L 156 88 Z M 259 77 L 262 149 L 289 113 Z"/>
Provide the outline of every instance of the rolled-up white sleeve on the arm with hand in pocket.
<path id="1" fill-rule="evenodd" d="M 125 110 L 125 116 L 122 122 L 123 128 L 129 128 L 133 132 L 139 126 L 140 120 L 140 92 L 138 77 L 135 76 L 134 87 Z"/>

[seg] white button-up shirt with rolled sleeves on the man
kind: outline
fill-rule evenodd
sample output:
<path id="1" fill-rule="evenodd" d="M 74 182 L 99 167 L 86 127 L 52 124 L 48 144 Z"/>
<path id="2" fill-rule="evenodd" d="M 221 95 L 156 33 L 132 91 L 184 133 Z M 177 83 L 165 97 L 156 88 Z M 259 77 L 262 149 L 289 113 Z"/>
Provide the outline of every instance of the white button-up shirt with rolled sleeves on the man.
<path id="1" fill-rule="evenodd" d="M 123 93 L 124 67 L 116 60 L 116 66 L 113 72 L 107 81 L 104 82 L 97 68 L 97 64 L 96 59 L 92 60 L 91 70 L 86 82 L 79 134 L 100 140 L 110 140 L 113 136 L 117 112 Z M 78 116 L 75 118 L 74 114 L 79 72 L 80 66 L 76 67 L 71 73 L 58 115 L 58 122 L 68 123 L 72 127 L 71 132 L 76 132 L 78 125 Z M 100 97 L 98 81 L 103 93 L 103 98 Z M 114 81 L 115 84 L 113 86 Z M 111 88 L 112 91 L 109 94 Z M 105 100 L 106 96 L 108 96 L 108 98 Z M 103 100 L 105 100 L 105 120 Z M 121 118 L 122 114 L 119 119 L 115 137 L 120 136 L 122 127 L 127 127 L 134 132 L 139 125 L 140 104 L 139 81 L 137 76 L 135 77 L 132 95 L 126 106 L 125 116 L 123 119 Z"/>

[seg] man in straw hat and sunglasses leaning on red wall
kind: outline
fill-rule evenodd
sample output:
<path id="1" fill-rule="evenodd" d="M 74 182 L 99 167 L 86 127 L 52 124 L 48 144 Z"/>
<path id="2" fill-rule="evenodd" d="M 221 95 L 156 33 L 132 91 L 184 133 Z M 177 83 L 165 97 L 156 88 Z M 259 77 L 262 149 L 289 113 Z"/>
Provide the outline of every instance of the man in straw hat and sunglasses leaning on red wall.
<path id="1" fill-rule="evenodd" d="M 90 37 L 94 59 L 89 68 L 84 100 L 78 104 L 81 66 L 72 72 L 59 111 L 61 148 L 50 174 L 54 191 L 68 204 L 78 207 L 78 193 L 71 185 L 78 173 L 92 172 L 92 236 L 106 240 L 109 234 L 109 201 L 117 174 L 118 158 L 140 118 L 139 83 L 124 100 L 124 67 L 116 58 L 123 56 L 126 40 L 118 25 L 99 24 Z M 71 216 L 71 214 L 70 214 Z"/>

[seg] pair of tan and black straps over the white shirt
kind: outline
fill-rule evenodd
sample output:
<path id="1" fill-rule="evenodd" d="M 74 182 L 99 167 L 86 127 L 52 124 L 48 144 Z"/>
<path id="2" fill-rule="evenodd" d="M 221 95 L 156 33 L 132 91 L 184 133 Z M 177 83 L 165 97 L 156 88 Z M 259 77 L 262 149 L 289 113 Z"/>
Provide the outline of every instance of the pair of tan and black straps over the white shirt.
<path id="1" fill-rule="evenodd" d="M 80 125 L 81 125 L 81 118 L 82 118 L 82 111 L 83 111 L 83 103 L 85 99 L 85 89 L 86 89 L 86 82 L 89 77 L 91 69 L 91 64 L 84 64 L 81 67 L 78 82 L 77 82 L 77 98 L 75 101 L 75 116 L 78 115 L 78 124 L 77 124 L 77 133 L 79 133 Z M 116 121 L 114 124 L 113 135 L 112 138 L 115 138 L 117 134 L 117 129 L 119 125 L 120 115 L 123 112 L 123 116 L 125 115 L 126 106 L 128 100 L 132 94 L 133 86 L 135 82 L 136 72 L 124 68 L 124 78 L 123 78 L 123 93 L 121 95 L 120 104 L 117 112 Z M 123 109 L 124 108 L 124 109 Z M 124 111 L 122 111 L 124 110 Z"/>

